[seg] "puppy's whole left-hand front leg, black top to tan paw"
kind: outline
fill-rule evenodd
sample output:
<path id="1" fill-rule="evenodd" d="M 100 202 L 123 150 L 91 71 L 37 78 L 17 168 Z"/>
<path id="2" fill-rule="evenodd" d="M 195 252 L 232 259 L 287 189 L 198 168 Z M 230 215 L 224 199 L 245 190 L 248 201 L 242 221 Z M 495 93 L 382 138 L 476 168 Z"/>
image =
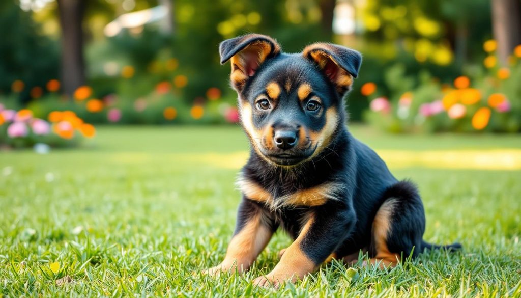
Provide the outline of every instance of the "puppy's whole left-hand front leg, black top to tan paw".
<path id="1" fill-rule="evenodd" d="M 242 275 L 263 251 L 276 230 L 275 224 L 255 202 L 243 198 L 237 214 L 235 232 L 221 264 L 206 270 L 209 275 L 238 270 Z"/>

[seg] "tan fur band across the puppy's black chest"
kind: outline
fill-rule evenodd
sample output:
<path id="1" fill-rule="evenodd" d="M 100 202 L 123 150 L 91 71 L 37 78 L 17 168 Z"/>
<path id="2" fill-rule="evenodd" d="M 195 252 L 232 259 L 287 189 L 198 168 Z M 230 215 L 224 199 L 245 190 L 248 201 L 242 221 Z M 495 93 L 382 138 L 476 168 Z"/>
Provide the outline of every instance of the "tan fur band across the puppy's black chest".
<path id="1" fill-rule="evenodd" d="M 328 200 L 337 200 L 340 190 L 340 187 L 328 182 L 275 199 L 266 189 L 250 180 L 241 179 L 238 181 L 238 186 L 247 198 L 263 202 L 271 209 L 291 206 L 321 206 L 326 204 Z"/>

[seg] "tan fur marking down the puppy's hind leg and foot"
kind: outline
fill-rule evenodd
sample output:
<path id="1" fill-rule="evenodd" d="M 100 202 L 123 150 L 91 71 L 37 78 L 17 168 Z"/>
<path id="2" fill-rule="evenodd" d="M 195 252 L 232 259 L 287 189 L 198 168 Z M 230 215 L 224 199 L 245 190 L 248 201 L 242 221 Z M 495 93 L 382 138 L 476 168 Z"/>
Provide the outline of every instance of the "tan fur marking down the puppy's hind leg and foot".
<path id="1" fill-rule="evenodd" d="M 387 236 L 391 230 L 391 216 L 395 207 L 396 200 L 388 199 L 385 201 L 373 220 L 373 239 L 375 241 L 376 256 L 369 259 L 372 265 L 378 264 L 380 268 L 394 267 L 400 261 L 399 254 L 391 253 L 387 247 Z M 381 262 L 380 262 L 381 261 Z"/>

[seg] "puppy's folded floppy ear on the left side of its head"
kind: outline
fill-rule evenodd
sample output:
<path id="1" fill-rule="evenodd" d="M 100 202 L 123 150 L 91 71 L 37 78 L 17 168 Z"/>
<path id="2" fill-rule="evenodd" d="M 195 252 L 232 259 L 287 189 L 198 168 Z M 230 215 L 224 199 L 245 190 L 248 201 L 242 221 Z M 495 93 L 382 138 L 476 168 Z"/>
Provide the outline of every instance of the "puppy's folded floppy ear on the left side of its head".
<path id="1" fill-rule="evenodd" d="M 271 37 L 247 34 L 221 42 L 219 54 L 221 64 L 231 59 L 231 85 L 241 92 L 246 81 L 255 75 L 257 68 L 268 57 L 280 53 L 280 45 Z"/>

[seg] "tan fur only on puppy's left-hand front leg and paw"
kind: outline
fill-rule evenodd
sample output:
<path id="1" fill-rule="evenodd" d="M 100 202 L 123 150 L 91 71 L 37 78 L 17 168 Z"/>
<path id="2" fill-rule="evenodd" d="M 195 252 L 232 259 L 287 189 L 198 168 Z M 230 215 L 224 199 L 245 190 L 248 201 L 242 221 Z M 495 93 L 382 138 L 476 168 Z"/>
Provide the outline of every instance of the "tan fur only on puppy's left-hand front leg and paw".
<path id="1" fill-rule="evenodd" d="M 220 271 L 237 269 L 240 274 L 244 273 L 266 247 L 271 236 L 272 232 L 261 223 L 260 216 L 251 218 L 242 230 L 232 237 L 222 263 L 206 272 L 216 275 Z"/>

